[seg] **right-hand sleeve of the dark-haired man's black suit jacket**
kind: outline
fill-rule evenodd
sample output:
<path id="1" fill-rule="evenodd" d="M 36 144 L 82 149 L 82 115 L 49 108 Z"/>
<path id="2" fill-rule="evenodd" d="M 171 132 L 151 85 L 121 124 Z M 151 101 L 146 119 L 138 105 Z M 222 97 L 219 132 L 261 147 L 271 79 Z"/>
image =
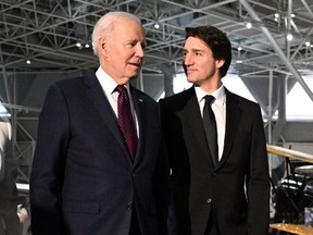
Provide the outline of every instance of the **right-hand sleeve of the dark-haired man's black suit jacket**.
<path id="1" fill-rule="evenodd" d="M 270 225 L 270 174 L 261 109 L 254 112 L 247 177 L 249 235 L 267 234 Z"/>

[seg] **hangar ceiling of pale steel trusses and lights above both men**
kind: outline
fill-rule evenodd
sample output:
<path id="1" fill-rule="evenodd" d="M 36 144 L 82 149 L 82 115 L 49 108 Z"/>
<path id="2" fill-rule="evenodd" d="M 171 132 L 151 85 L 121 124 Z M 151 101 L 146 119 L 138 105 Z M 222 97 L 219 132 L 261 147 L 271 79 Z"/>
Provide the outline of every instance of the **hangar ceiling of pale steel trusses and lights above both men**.
<path id="1" fill-rule="evenodd" d="M 305 45 L 313 45 L 312 0 L 2 0 L 2 70 L 68 72 L 98 66 L 90 35 L 95 22 L 109 11 L 128 11 L 141 18 L 148 46 L 143 73 L 158 73 L 164 63 L 180 64 L 185 27 L 210 24 L 228 34 L 234 62 L 242 62 L 233 64 L 233 73 L 288 74 L 284 55 L 301 74 L 312 74 L 312 47 Z M 252 24 L 250 29 L 247 23 Z M 288 33 L 291 41 L 286 40 Z"/>

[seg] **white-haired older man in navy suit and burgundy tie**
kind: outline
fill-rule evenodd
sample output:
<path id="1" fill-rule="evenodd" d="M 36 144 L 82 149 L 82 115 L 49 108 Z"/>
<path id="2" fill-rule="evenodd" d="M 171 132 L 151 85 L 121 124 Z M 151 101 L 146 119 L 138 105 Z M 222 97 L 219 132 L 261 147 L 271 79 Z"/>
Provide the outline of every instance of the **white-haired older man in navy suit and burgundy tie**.
<path id="1" fill-rule="evenodd" d="M 96 74 L 48 91 L 30 177 L 33 235 L 164 235 L 168 166 L 158 103 L 134 88 L 145 30 L 125 12 L 92 34 Z"/>

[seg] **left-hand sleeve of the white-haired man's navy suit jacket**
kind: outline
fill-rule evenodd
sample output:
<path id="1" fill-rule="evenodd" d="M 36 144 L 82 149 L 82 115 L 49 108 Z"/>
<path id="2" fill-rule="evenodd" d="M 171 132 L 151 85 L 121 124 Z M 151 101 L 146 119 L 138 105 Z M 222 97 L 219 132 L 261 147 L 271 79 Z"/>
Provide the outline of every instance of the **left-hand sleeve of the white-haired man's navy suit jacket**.
<path id="1" fill-rule="evenodd" d="M 61 215 L 68 110 L 57 85 L 47 94 L 39 118 L 37 146 L 30 174 L 30 210 L 34 235 L 64 233 Z"/>

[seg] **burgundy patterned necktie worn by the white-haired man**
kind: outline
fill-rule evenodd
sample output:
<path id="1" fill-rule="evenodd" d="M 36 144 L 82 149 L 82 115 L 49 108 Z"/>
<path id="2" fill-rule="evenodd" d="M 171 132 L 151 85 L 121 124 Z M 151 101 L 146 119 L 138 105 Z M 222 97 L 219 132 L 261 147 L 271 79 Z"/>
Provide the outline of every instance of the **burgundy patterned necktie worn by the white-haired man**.
<path id="1" fill-rule="evenodd" d="M 124 85 L 116 86 L 116 90 L 118 91 L 118 98 L 117 98 L 118 125 L 123 133 L 125 143 L 127 145 L 130 159 L 132 161 L 134 161 L 138 138 L 130 110 L 130 102 L 127 90 Z"/>

